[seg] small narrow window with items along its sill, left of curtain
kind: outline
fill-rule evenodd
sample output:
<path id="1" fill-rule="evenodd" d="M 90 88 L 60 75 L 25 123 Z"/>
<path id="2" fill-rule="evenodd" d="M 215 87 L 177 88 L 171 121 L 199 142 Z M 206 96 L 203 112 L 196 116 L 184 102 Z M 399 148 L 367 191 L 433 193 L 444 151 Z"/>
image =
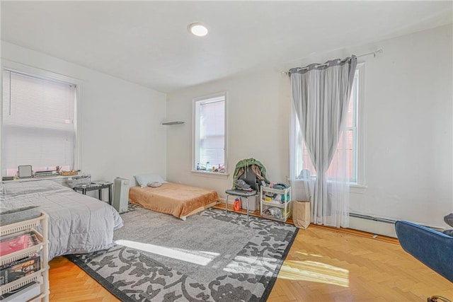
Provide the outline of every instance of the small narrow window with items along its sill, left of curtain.
<path id="1" fill-rule="evenodd" d="M 193 170 L 225 173 L 226 93 L 193 100 Z"/>

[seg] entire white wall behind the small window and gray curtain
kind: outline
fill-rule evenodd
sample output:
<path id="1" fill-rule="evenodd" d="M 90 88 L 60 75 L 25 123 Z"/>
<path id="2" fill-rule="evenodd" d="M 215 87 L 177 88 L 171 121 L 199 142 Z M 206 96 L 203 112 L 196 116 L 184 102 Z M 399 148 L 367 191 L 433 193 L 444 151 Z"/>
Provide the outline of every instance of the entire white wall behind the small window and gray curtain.
<path id="1" fill-rule="evenodd" d="M 325 62 L 379 48 L 365 62 L 365 179 L 362 194 L 351 194 L 350 211 L 445 227 L 453 211 L 452 26 L 349 47 L 302 60 Z M 228 91 L 229 178 L 190 173 L 192 99 Z M 280 71 L 257 71 L 168 94 L 168 180 L 210 187 L 223 197 L 234 165 L 253 157 L 273 181 L 289 175 L 289 79 Z"/>

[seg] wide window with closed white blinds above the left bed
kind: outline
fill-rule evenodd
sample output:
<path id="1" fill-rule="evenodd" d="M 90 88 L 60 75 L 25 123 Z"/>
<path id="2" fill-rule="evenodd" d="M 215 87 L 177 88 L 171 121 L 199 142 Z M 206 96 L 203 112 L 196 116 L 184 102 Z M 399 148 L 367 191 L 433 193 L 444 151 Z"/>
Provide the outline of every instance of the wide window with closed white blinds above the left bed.
<path id="1" fill-rule="evenodd" d="M 74 169 L 75 103 L 74 84 L 4 69 L 2 175 L 15 175 L 18 165 Z"/>

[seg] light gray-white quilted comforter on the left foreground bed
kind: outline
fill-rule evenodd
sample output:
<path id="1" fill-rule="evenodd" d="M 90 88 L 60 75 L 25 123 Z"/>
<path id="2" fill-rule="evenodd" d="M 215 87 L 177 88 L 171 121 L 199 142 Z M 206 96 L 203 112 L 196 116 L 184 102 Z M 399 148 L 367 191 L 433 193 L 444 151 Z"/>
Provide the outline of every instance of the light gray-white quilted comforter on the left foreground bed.
<path id="1" fill-rule="evenodd" d="M 49 215 L 49 260 L 110 248 L 122 226 L 110 205 L 51 180 L 7 182 L 1 194 L 0 211 L 37 205 Z"/>

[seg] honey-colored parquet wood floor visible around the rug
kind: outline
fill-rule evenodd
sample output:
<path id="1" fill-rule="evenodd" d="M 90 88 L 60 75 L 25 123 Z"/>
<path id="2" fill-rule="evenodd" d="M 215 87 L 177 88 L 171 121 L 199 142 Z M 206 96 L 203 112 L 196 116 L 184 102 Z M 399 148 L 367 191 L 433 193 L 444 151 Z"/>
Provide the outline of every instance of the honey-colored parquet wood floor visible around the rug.
<path id="1" fill-rule="evenodd" d="M 453 284 L 403 251 L 397 240 L 360 231 L 299 230 L 268 301 L 453 299 Z M 50 301 L 118 301 L 64 257 L 50 262 Z"/>

